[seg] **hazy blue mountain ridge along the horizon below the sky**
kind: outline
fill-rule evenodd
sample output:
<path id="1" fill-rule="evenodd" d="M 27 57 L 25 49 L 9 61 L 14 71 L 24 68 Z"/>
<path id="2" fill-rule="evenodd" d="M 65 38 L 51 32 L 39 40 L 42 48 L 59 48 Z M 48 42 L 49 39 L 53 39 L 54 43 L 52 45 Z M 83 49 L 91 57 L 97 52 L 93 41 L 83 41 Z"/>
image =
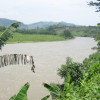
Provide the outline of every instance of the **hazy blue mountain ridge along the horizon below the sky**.
<path id="1" fill-rule="evenodd" d="M 0 18 L 0 26 L 9 26 L 12 23 L 15 22 L 20 22 L 17 20 L 11 20 L 11 19 L 6 19 L 6 18 Z M 75 26 L 75 24 L 72 23 L 66 23 L 66 22 L 53 22 L 53 21 L 40 21 L 40 22 L 36 22 L 36 23 L 32 23 L 32 24 L 24 24 L 23 22 L 21 22 L 20 27 L 19 28 L 27 28 L 27 29 L 35 29 L 35 28 L 45 28 L 48 27 L 50 25 L 57 25 L 57 24 L 62 24 L 62 25 L 66 25 L 66 26 Z"/>

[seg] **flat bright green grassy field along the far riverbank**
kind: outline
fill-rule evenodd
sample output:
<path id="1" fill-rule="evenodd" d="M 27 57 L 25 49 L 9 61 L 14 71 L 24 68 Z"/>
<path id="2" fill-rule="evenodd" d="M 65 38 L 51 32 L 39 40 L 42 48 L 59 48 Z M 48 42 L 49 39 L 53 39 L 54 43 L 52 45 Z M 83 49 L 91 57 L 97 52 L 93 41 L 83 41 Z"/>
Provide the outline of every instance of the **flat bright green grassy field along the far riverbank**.
<path id="1" fill-rule="evenodd" d="M 0 32 L 1 34 L 2 32 Z M 58 35 L 36 35 L 36 34 L 21 34 L 14 33 L 13 38 L 8 40 L 8 43 L 14 42 L 39 42 L 39 41 L 62 41 L 63 37 Z"/>

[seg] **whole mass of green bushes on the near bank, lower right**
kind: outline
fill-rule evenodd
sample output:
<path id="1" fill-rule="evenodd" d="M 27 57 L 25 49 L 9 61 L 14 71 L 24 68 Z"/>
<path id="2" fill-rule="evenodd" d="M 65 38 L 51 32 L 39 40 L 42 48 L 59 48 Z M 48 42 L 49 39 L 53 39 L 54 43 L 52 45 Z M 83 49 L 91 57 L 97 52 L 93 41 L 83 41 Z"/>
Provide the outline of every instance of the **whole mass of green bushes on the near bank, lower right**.
<path id="1" fill-rule="evenodd" d="M 74 72 L 77 73 L 76 68 L 73 69 L 73 63 L 74 67 L 76 67 L 76 65 L 78 65 L 78 67 L 80 66 L 79 68 L 81 72 L 83 72 L 82 77 L 81 75 L 79 78 L 75 77 L 76 80 L 72 78 L 73 75 L 70 73 L 71 69 L 74 75 Z M 68 69 L 69 65 L 70 69 Z M 84 71 L 84 67 L 86 71 Z M 62 73 L 61 69 L 59 72 Z M 64 73 L 64 71 L 67 72 L 67 74 Z M 60 96 L 58 96 L 50 91 L 52 100 L 100 100 L 100 53 L 90 55 L 89 58 L 86 58 L 81 64 L 72 62 L 72 59 L 68 57 L 63 69 L 64 75 L 61 73 L 60 76 L 64 76 L 65 81 L 61 85 L 51 84 L 52 88 L 60 93 Z"/>

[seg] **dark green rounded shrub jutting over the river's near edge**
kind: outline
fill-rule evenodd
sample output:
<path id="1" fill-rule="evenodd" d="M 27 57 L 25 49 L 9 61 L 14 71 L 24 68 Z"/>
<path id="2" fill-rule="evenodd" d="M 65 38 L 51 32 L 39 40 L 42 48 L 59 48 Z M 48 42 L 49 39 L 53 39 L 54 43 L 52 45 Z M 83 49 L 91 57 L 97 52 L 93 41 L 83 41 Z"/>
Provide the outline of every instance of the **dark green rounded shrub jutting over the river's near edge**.
<path id="1" fill-rule="evenodd" d="M 82 64 L 73 62 L 71 59 L 67 58 L 66 64 L 58 69 L 58 75 L 65 80 L 69 73 L 71 75 L 70 82 L 78 82 L 79 79 L 83 77 L 81 68 Z"/>

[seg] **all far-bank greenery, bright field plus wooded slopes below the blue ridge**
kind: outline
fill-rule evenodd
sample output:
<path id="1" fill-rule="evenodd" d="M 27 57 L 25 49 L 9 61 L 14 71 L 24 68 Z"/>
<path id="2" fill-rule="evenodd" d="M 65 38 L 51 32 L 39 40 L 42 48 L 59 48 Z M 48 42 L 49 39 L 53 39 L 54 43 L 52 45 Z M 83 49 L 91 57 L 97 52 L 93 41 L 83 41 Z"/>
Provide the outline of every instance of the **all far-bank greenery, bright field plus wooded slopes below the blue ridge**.
<path id="1" fill-rule="evenodd" d="M 0 34 L 6 27 L 0 26 Z M 74 36 L 96 37 L 100 31 L 99 26 L 65 26 L 51 25 L 42 29 L 17 29 L 13 38 L 8 42 L 39 42 L 62 41 L 72 39 Z"/>

